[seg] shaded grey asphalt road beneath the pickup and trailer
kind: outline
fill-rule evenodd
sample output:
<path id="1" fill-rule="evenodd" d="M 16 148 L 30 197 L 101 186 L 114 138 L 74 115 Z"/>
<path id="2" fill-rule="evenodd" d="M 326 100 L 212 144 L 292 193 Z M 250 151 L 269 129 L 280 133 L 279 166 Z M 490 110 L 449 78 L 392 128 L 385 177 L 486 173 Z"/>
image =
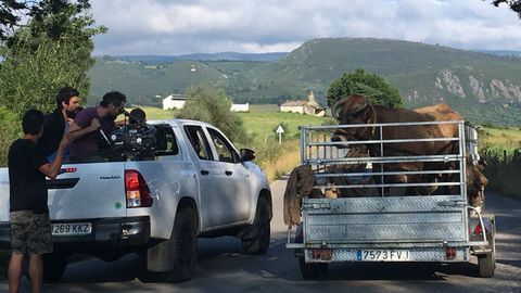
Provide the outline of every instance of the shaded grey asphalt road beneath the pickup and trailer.
<path id="1" fill-rule="evenodd" d="M 486 209 L 496 214 L 497 267 L 494 278 L 478 277 L 476 262 L 457 265 L 335 264 L 320 280 L 303 280 L 296 258 L 284 247 L 282 196 L 285 180 L 271 184 L 271 244 L 265 255 L 242 253 L 234 238 L 199 240 L 194 279 L 185 283 L 142 282 L 138 258 L 89 259 L 67 267 L 60 283 L 45 292 L 521 292 L 521 201 L 488 193 Z M 0 292 L 7 291 L 5 279 Z M 24 278 L 22 292 L 28 292 Z"/>

